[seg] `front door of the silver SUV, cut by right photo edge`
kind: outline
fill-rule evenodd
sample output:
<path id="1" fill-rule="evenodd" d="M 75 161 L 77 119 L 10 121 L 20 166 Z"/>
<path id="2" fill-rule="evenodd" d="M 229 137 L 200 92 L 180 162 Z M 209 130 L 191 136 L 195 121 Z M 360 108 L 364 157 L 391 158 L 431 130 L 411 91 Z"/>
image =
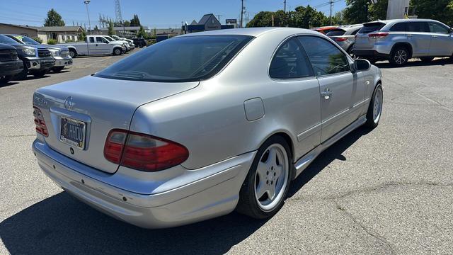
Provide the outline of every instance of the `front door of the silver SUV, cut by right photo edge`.
<path id="1" fill-rule="evenodd" d="M 445 57 L 453 55 L 453 34 L 450 28 L 442 23 L 429 22 L 431 44 L 430 55 L 433 57 Z"/>

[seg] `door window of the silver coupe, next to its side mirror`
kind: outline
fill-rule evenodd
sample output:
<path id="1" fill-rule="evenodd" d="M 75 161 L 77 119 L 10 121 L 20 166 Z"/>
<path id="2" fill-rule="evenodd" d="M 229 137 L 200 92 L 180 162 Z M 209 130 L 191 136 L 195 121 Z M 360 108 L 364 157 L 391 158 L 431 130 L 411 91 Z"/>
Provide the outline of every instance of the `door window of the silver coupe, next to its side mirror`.
<path id="1" fill-rule="evenodd" d="M 316 36 L 299 37 L 316 76 L 350 71 L 348 57 L 328 40 Z"/>

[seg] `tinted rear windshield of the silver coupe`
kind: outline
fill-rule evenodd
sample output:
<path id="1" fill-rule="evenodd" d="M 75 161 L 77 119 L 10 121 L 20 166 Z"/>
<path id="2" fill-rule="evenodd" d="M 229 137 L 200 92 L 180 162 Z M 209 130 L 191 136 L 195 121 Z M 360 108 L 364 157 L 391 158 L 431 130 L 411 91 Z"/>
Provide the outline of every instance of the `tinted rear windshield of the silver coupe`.
<path id="1" fill-rule="evenodd" d="M 200 35 L 156 43 L 95 74 L 139 81 L 200 81 L 212 77 L 253 37 Z"/>

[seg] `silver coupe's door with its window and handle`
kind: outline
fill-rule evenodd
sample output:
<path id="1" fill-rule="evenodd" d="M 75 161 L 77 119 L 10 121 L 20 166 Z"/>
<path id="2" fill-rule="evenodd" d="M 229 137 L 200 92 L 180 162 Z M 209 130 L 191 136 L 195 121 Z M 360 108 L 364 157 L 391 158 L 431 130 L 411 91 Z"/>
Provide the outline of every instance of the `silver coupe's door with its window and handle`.
<path id="1" fill-rule="evenodd" d="M 348 57 L 332 42 L 309 35 L 299 40 L 319 81 L 324 142 L 359 118 L 365 82 L 359 82 L 357 73 L 352 74 Z"/>

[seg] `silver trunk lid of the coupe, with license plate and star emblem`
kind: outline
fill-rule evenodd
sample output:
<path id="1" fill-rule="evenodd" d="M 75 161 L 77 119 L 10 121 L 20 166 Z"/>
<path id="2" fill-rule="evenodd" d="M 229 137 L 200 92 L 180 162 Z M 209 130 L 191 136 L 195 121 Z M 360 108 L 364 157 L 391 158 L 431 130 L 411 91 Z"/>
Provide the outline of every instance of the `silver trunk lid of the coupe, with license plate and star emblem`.
<path id="1" fill-rule="evenodd" d="M 166 83 L 90 76 L 38 89 L 33 104 L 44 115 L 47 145 L 78 162 L 114 173 L 118 164 L 103 154 L 108 132 L 129 130 L 132 115 L 144 103 L 197 85 L 197 81 Z"/>

